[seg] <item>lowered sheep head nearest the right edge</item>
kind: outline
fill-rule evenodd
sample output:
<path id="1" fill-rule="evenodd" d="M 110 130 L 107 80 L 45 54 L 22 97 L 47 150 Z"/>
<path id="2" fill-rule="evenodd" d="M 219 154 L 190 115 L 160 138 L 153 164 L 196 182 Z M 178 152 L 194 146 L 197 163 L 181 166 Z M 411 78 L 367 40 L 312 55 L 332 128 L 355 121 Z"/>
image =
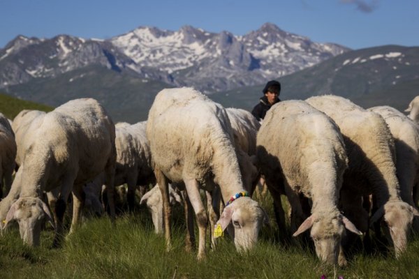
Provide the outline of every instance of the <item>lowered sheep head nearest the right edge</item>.
<path id="1" fill-rule="evenodd" d="M 370 224 L 374 224 L 381 216 L 384 216 L 384 232 L 390 243 L 393 243 L 396 257 L 406 250 L 407 236 L 413 218 L 419 216 L 417 209 L 402 201 L 387 202 L 381 206 L 371 218 Z"/>

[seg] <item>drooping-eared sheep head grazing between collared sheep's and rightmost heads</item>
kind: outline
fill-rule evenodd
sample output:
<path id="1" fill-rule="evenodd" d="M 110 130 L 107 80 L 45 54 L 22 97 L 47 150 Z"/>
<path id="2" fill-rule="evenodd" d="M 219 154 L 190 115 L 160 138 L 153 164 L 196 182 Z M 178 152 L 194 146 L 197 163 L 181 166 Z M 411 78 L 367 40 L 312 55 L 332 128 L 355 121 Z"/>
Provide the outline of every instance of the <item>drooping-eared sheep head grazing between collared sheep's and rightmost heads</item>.
<path id="1" fill-rule="evenodd" d="M 341 251 L 341 239 L 344 236 L 345 227 L 355 234 L 362 234 L 348 218 L 338 211 L 314 213 L 304 220 L 293 236 L 311 228 L 311 239 L 314 241 L 319 259 L 328 264 L 344 265 L 346 260 Z"/>

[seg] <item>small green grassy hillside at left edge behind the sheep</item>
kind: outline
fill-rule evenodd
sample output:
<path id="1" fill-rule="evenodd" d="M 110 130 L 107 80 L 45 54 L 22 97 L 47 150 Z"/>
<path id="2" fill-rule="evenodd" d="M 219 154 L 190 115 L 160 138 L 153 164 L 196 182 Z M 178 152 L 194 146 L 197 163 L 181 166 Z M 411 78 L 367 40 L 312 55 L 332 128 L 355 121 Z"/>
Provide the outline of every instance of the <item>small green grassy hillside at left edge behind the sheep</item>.
<path id="1" fill-rule="evenodd" d="M 34 103 L 28 100 L 20 100 L 0 93 L 0 112 L 8 119 L 13 120 L 22 110 L 42 110 L 43 112 L 50 112 L 51 110 L 54 110 L 54 107 Z"/>

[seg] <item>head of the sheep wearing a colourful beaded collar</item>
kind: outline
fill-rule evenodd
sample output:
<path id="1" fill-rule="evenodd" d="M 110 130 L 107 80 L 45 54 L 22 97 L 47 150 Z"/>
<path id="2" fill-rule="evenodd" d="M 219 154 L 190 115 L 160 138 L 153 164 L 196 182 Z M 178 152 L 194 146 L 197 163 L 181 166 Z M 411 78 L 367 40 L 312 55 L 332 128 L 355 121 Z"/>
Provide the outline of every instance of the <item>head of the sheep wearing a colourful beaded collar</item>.
<path id="1" fill-rule="evenodd" d="M 234 230 L 230 227 L 228 232 L 233 236 L 237 251 L 245 251 L 253 248 L 261 225 L 269 223 L 269 218 L 258 202 L 250 197 L 240 197 L 224 208 L 215 227 L 221 225 L 224 230 L 230 222 Z"/>

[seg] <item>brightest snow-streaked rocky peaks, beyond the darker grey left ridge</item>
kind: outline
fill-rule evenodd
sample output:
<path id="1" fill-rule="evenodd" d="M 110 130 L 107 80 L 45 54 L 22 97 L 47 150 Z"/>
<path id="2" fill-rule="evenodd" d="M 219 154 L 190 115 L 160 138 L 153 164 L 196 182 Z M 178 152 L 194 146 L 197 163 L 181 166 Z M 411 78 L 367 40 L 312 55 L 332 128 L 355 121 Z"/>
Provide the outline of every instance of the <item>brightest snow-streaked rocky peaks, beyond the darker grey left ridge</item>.
<path id="1" fill-rule="evenodd" d="M 158 68 L 172 77 L 172 85 L 194 86 L 205 93 L 260 84 L 349 50 L 314 43 L 270 23 L 244 36 L 191 26 L 179 31 L 139 27 L 110 42 L 135 61 L 135 70 Z"/>

